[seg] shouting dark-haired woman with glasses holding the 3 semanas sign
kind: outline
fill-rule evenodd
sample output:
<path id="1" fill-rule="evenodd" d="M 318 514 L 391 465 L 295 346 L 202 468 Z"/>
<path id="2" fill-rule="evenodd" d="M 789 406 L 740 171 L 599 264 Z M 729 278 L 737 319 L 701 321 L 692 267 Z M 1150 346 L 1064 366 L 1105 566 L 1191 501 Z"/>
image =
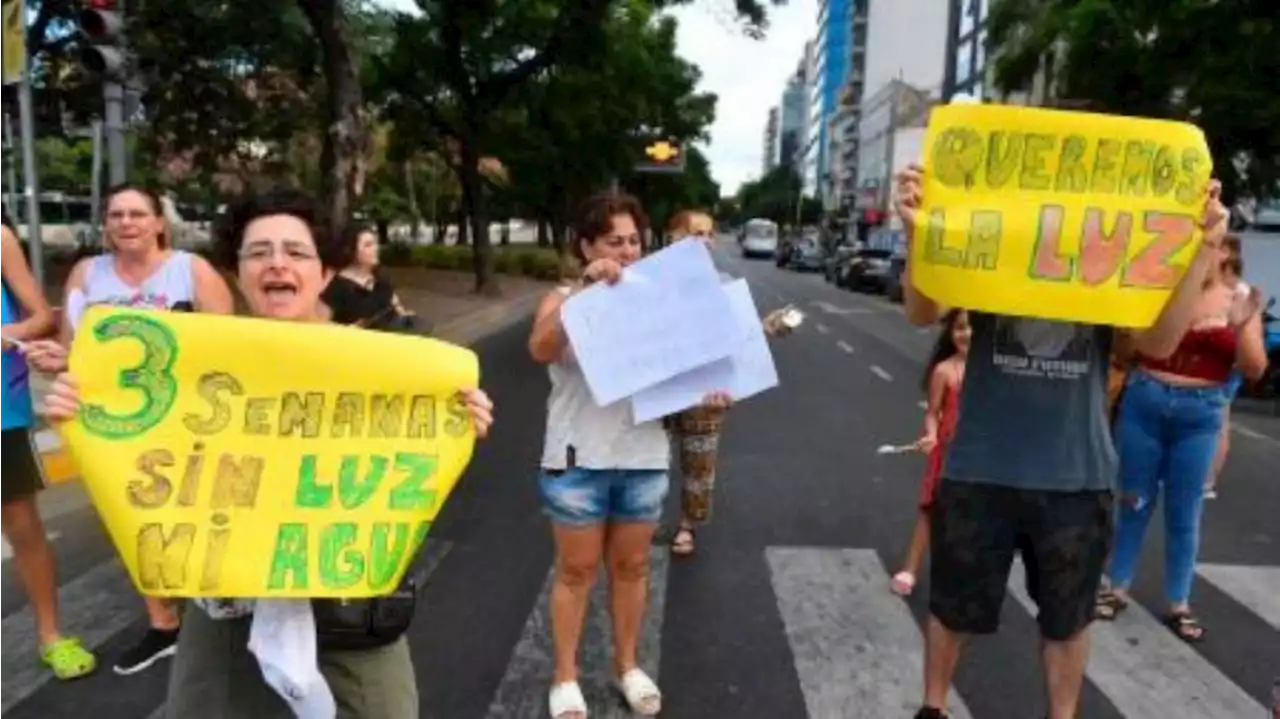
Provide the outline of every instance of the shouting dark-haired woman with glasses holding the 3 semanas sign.
<path id="1" fill-rule="evenodd" d="M 250 196 L 228 209 L 215 251 L 220 261 L 236 267 L 237 285 L 253 316 L 289 322 L 328 321 L 320 293 L 340 267 L 344 251 L 340 239 L 330 237 L 326 228 L 319 205 L 291 191 Z M 479 389 L 465 391 L 462 400 L 476 435 L 485 436 L 493 423 L 493 403 Z M 51 418 L 76 417 L 81 403 L 74 377 L 60 375 L 46 406 Z M 279 600 L 196 600 L 193 610 L 187 613 L 169 679 L 168 716 L 415 719 L 419 715 L 417 682 L 402 633 L 387 644 L 360 649 L 338 649 L 303 638 L 297 646 L 251 651 L 253 615 L 280 617 L 285 606 Z M 315 617 L 323 640 L 325 624 L 319 612 Z M 260 651 L 266 650 L 283 658 L 280 663 L 264 660 Z M 312 691 L 317 683 L 323 691 Z M 300 686 L 308 691 L 300 691 Z"/>

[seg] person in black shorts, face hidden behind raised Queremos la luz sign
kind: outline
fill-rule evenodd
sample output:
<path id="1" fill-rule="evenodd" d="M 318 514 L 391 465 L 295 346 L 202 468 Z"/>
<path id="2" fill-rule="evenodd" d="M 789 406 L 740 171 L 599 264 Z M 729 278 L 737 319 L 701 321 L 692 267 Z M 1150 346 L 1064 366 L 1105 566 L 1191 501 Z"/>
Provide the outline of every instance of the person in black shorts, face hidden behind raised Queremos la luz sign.
<path id="1" fill-rule="evenodd" d="M 920 166 L 910 166 L 896 180 L 896 210 L 911 258 L 902 278 L 904 301 L 915 325 L 937 322 L 946 312 L 915 284 L 929 249 L 922 243 L 937 239 L 932 233 L 925 238 L 923 217 L 918 221 L 927 187 L 934 184 Z M 1024 202 L 1016 187 L 1002 192 L 1010 206 Z M 1178 348 L 1197 316 L 1201 288 L 1220 261 L 1226 233 L 1221 189 L 1215 182 L 1196 192 L 1197 206 L 1203 203 L 1194 217 L 1198 246 L 1155 324 L 1135 336 L 1139 349 L 1153 358 L 1167 358 Z M 1033 230 L 1030 225 L 1025 232 Z M 1025 248 L 1034 238 L 1019 230 L 1001 242 Z M 975 275 L 970 281 L 983 279 Z M 1088 626 L 1111 541 L 1116 454 L 1106 390 L 1115 331 L 1098 324 L 972 310 L 969 317 L 973 336 L 960 416 L 931 527 L 924 697 L 916 718 L 947 716 L 963 640 L 997 629 L 1021 540 L 1037 565 L 1033 594 L 1048 718 L 1074 719 L 1088 660 Z"/>

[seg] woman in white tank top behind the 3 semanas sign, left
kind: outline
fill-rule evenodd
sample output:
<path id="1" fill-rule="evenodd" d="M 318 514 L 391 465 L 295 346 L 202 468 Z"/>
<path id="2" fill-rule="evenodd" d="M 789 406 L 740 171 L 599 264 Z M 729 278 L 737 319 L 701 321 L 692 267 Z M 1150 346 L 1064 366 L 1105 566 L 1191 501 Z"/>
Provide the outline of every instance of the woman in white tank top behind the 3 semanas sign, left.
<path id="1" fill-rule="evenodd" d="M 111 304 L 175 312 L 230 315 L 230 289 L 204 257 L 175 249 L 160 194 L 123 184 L 106 193 L 102 217 L 106 253 L 81 260 L 67 280 L 61 338 L 27 347 L 27 360 L 44 372 L 67 368 L 67 348 L 86 307 Z M 172 656 L 179 615 L 168 601 L 143 597 L 150 627 L 115 661 L 118 674 L 133 674 Z"/>

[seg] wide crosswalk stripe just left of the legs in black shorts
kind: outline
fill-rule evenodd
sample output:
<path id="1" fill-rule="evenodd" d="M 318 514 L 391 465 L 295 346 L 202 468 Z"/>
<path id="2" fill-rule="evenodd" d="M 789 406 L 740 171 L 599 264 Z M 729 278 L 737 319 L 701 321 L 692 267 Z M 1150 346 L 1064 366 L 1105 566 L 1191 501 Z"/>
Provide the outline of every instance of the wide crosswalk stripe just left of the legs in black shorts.
<path id="1" fill-rule="evenodd" d="M 924 638 L 868 549 L 771 546 L 778 612 L 808 715 L 910 716 L 920 705 Z M 951 692 L 951 716 L 972 719 Z"/>

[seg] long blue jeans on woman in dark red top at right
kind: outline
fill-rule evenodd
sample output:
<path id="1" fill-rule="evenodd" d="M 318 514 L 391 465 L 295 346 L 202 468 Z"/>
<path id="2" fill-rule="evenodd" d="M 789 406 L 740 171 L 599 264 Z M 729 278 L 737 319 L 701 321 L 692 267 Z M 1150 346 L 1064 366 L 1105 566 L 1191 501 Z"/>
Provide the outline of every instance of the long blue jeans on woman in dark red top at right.
<path id="1" fill-rule="evenodd" d="M 1120 453 L 1120 513 L 1108 576 L 1128 589 L 1142 553 L 1147 522 L 1165 489 L 1165 599 L 1184 604 L 1192 594 L 1199 518 L 1222 429 L 1228 397 L 1221 385 L 1178 388 L 1143 371 L 1129 376 L 1115 440 Z"/>

